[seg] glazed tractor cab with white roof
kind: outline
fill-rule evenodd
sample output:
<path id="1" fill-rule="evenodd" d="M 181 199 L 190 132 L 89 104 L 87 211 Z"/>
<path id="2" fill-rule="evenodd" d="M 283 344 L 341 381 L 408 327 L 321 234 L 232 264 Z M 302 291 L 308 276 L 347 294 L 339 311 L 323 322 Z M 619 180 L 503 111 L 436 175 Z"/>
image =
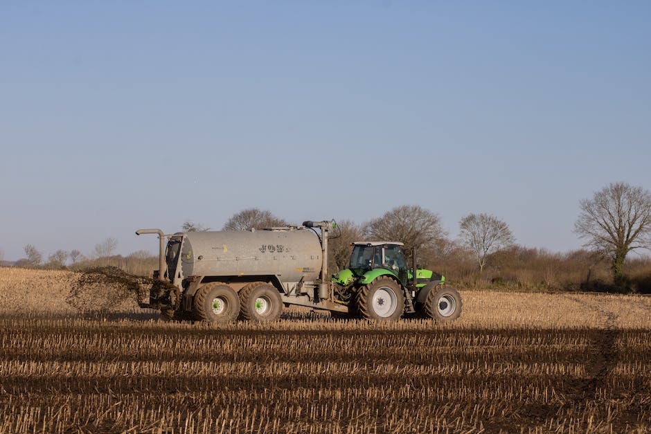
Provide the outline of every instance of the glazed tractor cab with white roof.
<path id="1" fill-rule="evenodd" d="M 372 269 L 388 269 L 406 283 L 407 262 L 402 246 L 401 242 L 355 242 L 348 268 L 359 274 Z"/>

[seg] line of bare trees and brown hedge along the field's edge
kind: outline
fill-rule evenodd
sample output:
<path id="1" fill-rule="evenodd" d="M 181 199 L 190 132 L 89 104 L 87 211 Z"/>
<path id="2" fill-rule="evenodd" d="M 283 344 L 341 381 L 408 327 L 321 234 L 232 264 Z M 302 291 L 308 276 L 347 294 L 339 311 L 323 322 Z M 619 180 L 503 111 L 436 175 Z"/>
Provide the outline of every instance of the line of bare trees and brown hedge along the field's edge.
<path id="1" fill-rule="evenodd" d="M 269 210 L 247 208 L 229 218 L 221 230 L 251 230 L 287 226 Z M 185 221 L 181 230 L 210 228 Z M 450 238 L 440 216 L 418 205 L 393 208 L 384 215 L 356 223 L 337 222 L 330 238 L 330 269 L 346 268 L 355 241 L 403 242 L 411 255 L 416 248 L 421 266 L 442 272 L 465 287 L 539 287 L 540 289 L 597 289 L 651 292 L 651 260 L 631 251 L 651 248 L 651 193 L 627 183 L 611 183 L 580 201 L 574 232 L 584 248 L 569 253 L 550 253 L 516 244 L 506 221 L 486 213 L 470 213 L 458 222 L 458 235 Z M 109 237 L 96 244 L 91 255 L 78 250 L 58 250 L 44 255 L 31 244 L 16 266 L 80 269 L 118 266 L 127 272 L 148 274 L 157 258 L 147 251 L 127 257 L 115 255 L 117 240 Z M 625 267 L 628 273 L 625 273 Z"/>

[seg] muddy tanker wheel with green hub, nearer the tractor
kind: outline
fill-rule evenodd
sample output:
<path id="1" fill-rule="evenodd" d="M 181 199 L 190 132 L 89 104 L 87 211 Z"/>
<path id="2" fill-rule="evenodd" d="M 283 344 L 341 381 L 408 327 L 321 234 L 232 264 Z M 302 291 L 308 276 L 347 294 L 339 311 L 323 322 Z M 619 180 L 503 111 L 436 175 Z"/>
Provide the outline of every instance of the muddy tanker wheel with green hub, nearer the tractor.
<path id="1" fill-rule="evenodd" d="M 244 320 L 265 323 L 280 318 L 283 299 L 272 284 L 253 282 L 240 291 L 240 317 Z"/>

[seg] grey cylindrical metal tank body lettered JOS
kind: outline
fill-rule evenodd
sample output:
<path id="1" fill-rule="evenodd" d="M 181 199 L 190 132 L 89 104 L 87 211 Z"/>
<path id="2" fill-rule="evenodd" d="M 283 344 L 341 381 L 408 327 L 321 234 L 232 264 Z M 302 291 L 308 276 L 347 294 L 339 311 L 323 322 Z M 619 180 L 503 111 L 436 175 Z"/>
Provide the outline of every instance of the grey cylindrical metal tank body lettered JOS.
<path id="1" fill-rule="evenodd" d="M 312 281 L 321 271 L 321 244 L 312 230 L 188 232 L 181 245 L 184 277 L 277 275 L 283 282 Z"/>

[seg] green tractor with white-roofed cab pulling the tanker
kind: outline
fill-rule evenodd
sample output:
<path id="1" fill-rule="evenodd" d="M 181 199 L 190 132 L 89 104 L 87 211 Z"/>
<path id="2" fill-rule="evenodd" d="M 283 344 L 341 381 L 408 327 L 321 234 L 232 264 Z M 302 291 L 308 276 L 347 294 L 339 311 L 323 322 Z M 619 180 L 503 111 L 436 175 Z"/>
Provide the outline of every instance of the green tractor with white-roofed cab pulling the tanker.
<path id="1" fill-rule="evenodd" d="M 442 321 L 461 315 L 461 296 L 445 277 L 407 266 L 401 242 L 355 242 L 348 269 L 332 276 L 337 302 L 348 316 L 398 320 L 404 314 Z M 416 274 L 413 273 L 416 270 Z"/>

